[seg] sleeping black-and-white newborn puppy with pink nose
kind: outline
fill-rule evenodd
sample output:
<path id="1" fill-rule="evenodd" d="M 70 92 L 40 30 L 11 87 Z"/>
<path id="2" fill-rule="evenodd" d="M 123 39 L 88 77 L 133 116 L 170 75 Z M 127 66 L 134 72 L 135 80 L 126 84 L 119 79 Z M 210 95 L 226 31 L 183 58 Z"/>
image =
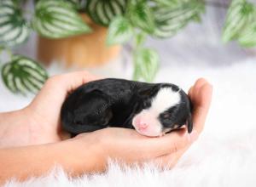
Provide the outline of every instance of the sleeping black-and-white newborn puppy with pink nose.
<path id="1" fill-rule="evenodd" d="M 126 127 L 154 137 L 183 125 L 191 133 L 191 108 L 188 95 L 174 84 L 107 78 L 85 83 L 67 97 L 61 125 L 73 135 Z"/>

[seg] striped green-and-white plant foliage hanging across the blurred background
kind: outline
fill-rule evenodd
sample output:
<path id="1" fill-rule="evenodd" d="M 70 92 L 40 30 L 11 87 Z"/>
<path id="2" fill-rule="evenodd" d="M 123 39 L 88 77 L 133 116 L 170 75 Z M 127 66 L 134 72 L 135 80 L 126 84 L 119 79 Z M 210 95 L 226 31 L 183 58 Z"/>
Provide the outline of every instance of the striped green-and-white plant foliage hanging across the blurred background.
<path id="1" fill-rule="evenodd" d="M 93 32 L 82 20 L 84 13 L 97 25 L 108 27 L 106 45 L 131 42 L 136 80 L 152 81 L 159 56 L 144 47 L 146 37 L 174 36 L 191 21 L 201 20 L 203 0 L 36 0 L 31 19 L 24 18 L 26 1 L 2 0 L 0 3 L 0 46 L 9 51 L 10 60 L 2 65 L 3 82 L 14 93 L 37 92 L 47 72 L 36 60 L 11 49 L 26 42 L 30 31 L 52 39 L 74 37 Z M 222 40 L 236 40 L 243 47 L 256 45 L 256 8 L 246 0 L 233 0 L 223 29 Z"/>

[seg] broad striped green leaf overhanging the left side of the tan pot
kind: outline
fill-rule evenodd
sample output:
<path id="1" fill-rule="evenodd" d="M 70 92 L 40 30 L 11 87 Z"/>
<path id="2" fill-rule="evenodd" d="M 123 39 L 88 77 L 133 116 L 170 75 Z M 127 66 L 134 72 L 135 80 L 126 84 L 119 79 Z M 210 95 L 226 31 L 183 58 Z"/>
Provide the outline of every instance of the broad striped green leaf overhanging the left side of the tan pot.
<path id="1" fill-rule="evenodd" d="M 40 35 L 49 38 L 71 37 L 91 31 L 73 5 L 62 0 L 40 0 L 33 27 Z"/>

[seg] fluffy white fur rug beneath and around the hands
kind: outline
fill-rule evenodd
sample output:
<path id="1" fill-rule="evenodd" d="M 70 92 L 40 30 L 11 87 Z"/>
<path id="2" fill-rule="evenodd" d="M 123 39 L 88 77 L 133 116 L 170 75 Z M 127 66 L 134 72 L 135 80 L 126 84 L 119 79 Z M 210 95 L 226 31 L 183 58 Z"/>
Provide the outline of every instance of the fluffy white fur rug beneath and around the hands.
<path id="1" fill-rule="evenodd" d="M 174 82 L 188 90 L 198 77 L 206 77 L 213 84 L 212 107 L 200 139 L 172 170 L 160 172 L 149 165 L 121 169 L 112 162 L 107 173 L 68 178 L 59 168 L 22 184 L 11 180 L 6 186 L 255 186 L 255 59 L 214 69 L 169 67 L 160 71 L 156 82 Z M 13 108 L 19 108 L 30 101 L 14 101 L 14 96 L 3 94 L 8 92 L 0 86 L 1 111 L 12 109 L 7 106 L 12 102 Z"/>

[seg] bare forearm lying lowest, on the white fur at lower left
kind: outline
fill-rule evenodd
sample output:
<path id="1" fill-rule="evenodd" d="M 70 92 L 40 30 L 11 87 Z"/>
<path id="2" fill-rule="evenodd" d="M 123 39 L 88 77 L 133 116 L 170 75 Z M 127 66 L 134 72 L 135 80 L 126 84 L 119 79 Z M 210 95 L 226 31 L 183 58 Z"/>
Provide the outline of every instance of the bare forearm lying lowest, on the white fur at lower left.
<path id="1" fill-rule="evenodd" d="M 75 140 L 55 144 L 32 145 L 0 150 L 0 184 L 9 178 L 24 180 L 38 177 L 59 165 L 72 176 L 101 171 L 103 161 L 98 150 L 86 146 L 81 150 Z"/>

